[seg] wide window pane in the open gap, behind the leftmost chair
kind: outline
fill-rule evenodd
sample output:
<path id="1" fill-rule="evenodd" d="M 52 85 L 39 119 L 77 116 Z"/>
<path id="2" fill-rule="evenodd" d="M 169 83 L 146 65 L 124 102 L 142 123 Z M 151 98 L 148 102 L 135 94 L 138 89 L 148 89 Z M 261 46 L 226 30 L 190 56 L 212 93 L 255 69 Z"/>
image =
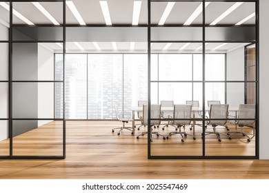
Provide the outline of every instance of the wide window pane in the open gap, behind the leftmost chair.
<path id="1" fill-rule="evenodd" d="M 88 54 L 88 119 L 116 119 L 122 106 L 122 54 Z"/>

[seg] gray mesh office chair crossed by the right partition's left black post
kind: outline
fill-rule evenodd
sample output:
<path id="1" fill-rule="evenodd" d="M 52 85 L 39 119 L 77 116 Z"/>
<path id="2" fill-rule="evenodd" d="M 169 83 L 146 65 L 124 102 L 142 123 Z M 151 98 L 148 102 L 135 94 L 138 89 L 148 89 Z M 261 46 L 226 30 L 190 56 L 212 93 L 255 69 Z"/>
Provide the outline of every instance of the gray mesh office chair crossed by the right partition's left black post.
<path id="1" fill-rule="evenodd" d="M 156 104 L 156 105 L 151 105 L 150 106 L 150 117 L 151 119 L 161 119 L 161 105 Z M 159 134 L 159 132 L 153 131 L 153 128 L 156 128 L 156 125 L 159 125 L 161 123 L 160 120 L 151 120 L 150 125 L 148 125 L 148 105 L 143 105 L 143 124 L 150 126 L 150 141 L 152 141 L 152 134 L 156 134 L 157 136 L 163 136 L 163 139 L 166 139 L 166 136 Z M 137 139 L 139 139 L 140 136 L 143 136 L 147 134 L 147 132 L 142 132 L 137 136 Z"/>

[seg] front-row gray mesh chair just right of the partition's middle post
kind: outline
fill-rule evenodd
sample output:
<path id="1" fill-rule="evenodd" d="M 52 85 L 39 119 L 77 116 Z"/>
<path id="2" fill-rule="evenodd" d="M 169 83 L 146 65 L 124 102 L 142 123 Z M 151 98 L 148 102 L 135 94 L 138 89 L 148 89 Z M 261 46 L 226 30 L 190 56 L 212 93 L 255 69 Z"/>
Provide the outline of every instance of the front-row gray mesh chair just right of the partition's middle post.
<path id="1" fill-rule="evenodd" d="M 225 125 L 228 119 L 228 107 L 229 105 L 222 104 L 212 104 L 210 108 L 210 119 L 222 119 L 222 120 L 210 120 L 208 121 L 208 125 L 212 125 L 213 131 L 212 132 L 205 132 L 205 135 L 208 134 L 215 134 L 217 136 L 217 139 L 221 141 L 221 135 L 227 136 L 228 139 L 232 139 L 232 136 L 228 134 L 222 134 L 216 131 L 216 127 L 218 125 Z M 203 133 L 202 133 L 203 135 Z M 203 136 L 202 136 L 203 138 Z"/>

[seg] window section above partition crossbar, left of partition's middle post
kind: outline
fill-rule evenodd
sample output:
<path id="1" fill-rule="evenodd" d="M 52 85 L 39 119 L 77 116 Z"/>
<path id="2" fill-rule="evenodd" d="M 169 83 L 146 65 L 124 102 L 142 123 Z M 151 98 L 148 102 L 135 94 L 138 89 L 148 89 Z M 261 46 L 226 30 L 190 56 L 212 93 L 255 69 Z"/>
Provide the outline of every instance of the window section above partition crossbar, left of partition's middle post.
<path id="1" fill-rule="evenodd" d="M 191 81 L 192 54 L 159 54 L 160 81 Z"/>

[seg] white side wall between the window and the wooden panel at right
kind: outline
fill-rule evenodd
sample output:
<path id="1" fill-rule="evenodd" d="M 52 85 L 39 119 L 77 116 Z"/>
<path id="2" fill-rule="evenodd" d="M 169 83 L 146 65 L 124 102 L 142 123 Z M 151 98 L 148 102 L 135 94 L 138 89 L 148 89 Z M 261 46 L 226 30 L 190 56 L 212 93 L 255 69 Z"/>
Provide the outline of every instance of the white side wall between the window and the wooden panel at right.
<path id="1" fill-rule="evenodd" d="M 227 81 L 244 80 L 244 47 L 226 54 Z M 244 103 L 244 83 L 227 83 L 227 104 L 237 107 Z"/>

